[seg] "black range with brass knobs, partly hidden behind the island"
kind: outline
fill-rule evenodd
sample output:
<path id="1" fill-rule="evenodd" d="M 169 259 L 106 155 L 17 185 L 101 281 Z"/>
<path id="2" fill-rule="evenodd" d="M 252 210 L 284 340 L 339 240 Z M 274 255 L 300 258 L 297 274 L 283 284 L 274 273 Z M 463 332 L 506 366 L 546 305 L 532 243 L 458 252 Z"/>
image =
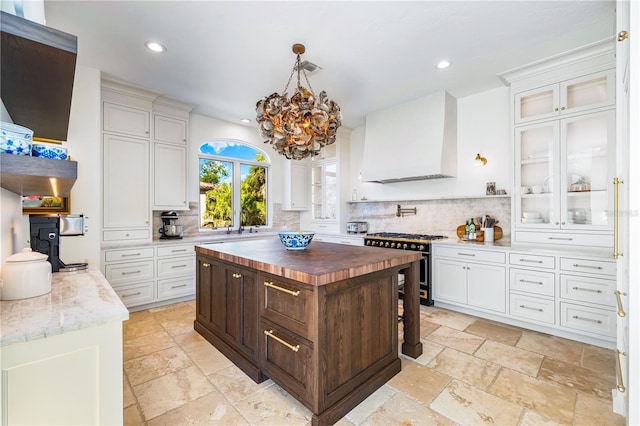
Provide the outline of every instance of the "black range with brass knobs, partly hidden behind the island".
<path id="1" fill-rule="evenodd" d="M 404 234 L 397 232 L 378 232 L 367 234 L 364 237 L 364 245 L 371 247 L 392 248 L 396 250 L 412 250 L 422 253 L 420 262 L 420 304 L 433 305 L 431 294 L 431 267 L 429 253 L 431 241 L 447 238 L 444 235 Z M 399 278 L 399 297 L 404 297 L 404 277 Z"/>

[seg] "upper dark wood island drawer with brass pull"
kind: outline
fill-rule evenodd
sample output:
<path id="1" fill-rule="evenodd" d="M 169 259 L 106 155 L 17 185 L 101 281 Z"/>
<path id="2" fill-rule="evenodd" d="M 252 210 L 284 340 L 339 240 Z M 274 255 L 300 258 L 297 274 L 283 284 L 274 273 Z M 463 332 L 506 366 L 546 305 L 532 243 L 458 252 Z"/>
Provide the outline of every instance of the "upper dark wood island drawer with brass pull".
<path id="1" fill-rule="evenodd" d="M 263 298 L 260 302 L 263 318 L 301 336 L 310 334 L 313 291 L 309 286 L 269 274 L 260 274 L 258 285 Z"/>

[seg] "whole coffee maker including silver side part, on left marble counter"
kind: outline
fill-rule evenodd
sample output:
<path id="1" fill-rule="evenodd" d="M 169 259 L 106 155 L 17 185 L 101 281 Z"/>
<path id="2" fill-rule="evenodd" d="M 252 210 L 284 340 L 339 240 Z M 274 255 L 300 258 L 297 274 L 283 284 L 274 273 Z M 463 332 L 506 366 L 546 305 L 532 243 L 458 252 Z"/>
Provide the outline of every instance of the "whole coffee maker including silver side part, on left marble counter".
<path id="1" fill-rule="evenodd" d="M 87 263 L 66 264 L 60 259 L 60 236 L 84 235 L 84 216 L 29 215 L 31 250 L 47 255 L 51 272 L 87 269 Z"/>

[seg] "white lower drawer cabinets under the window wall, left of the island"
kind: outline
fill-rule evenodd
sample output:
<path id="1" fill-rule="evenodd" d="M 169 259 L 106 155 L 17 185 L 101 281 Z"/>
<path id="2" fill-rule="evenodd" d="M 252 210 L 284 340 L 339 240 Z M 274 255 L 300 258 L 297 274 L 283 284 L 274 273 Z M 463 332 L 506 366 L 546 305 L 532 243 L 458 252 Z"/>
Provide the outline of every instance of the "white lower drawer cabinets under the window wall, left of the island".
<path id="1" fill-rule="evenodd" d="M 161 306 L 195 295 L 193 244 L 103 250 L 103 270 L 128 308 Z"/>

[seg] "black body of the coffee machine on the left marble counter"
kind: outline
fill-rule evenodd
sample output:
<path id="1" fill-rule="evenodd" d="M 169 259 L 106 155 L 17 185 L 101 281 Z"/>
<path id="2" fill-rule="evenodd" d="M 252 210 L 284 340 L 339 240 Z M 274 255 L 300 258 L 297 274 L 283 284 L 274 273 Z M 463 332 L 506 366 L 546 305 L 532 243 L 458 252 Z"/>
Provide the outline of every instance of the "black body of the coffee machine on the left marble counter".
<path id="1" fill-rule="evenodd" d="M 87 263 L 66 264 L 60 259 L 60 216 L 29 215 L 29 229 L 31 250 L 47 255 L 47 261 L 51 263 L 51 272 L 87 269 Z"/>

